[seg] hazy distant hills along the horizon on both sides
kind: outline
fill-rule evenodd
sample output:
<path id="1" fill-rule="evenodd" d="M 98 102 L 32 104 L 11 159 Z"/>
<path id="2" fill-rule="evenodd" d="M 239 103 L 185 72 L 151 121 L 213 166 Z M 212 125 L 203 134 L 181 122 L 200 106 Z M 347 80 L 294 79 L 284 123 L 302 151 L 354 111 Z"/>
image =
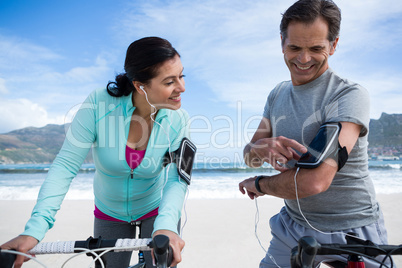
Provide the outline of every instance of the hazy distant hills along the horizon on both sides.
<path id="1" fill-rule="evenodd" d="M 0 164 L 51 163 L 59 152 L 69 125 L 27 127 L 0 134 Z M 402 114 L 383 113 L 370 120 L 369 151 L 402 155 Z M 92 162 L 91 152 L 86 162 Z"/>

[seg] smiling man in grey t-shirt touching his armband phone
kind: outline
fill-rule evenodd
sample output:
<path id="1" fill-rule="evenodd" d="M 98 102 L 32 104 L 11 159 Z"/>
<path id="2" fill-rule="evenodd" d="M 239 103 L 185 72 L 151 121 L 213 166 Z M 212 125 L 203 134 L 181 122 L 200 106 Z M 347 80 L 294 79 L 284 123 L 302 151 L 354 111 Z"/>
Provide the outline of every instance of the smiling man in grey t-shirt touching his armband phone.
<path id="1" fill-rule="evenodd" d="M 320 243 L 346 243 L 345 234 L 354 232 L 387 243 L 368 172 L 369 96 L 328 65 L 338 44 L 340 21 L 340 10 L 331 0 L 297 1 L 282 17 L 282 52 L 291 81 L 269 94 L 263 119 L 244 148 L 247 165 L 267 162 L 280 173 L 239 184 L 251 199 L 266 194 L 285 200 L 270 220 L 272 240 L 260 267 L 290 267 L 290 251 L 303 236 Z M 328 157 L 317 168 L 297 169 L 295 163 L 326 122 L 341 124 L 338 141 L 340 148 L 346 147 L 348 160 L 343 166 L 338 158 Z"/>

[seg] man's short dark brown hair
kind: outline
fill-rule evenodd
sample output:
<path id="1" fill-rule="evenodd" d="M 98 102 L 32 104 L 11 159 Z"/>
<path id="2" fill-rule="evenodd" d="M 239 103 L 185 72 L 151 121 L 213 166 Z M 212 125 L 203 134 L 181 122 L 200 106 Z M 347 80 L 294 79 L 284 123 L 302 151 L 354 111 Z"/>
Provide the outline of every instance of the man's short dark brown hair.
<path id="1" fill-rule="evenodd" d="M 328 23 L 328 40 L 335 41 L 341 28 L 341 10 L 332 0 L 299 0 L 282 15 L 282 45 L 287 38 L 288 26 L 292 21 L 313 23 L 322 17 Z"/>

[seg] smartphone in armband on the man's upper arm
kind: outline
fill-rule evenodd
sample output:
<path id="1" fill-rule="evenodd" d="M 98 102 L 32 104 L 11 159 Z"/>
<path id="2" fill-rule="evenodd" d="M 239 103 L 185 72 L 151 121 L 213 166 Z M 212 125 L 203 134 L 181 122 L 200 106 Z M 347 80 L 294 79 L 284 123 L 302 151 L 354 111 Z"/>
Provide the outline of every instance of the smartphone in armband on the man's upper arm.
<path id="1" fill-rule="evenodd" d="M 308 146 L 308 152 L 304 153 L 295 164 L 296 167 L 318 167 L 329 155 L 338 149 L 338 138 L 341 128 L 342 125 L 340 123 L 331 122 L 323 124 Z"/>

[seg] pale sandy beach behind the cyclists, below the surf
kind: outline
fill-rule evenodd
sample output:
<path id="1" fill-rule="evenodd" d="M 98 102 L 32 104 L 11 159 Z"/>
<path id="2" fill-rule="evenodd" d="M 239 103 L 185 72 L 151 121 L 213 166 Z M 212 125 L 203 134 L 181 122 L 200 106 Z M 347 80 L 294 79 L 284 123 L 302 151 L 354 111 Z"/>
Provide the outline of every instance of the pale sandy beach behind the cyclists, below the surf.
<path id="1" fill-rule="evenodd" d="M 379 195 L 388 229 L 390 244 L 402 244 L 402 194 Z M 259 198 L 258 235 L 266 248 L 271 235 L 269 218 L 276 214 L 283 200 Z M 23 231 L 34 201 L 0 201 L 0 242 L 3 243 Z M 53 229 L 44 241 L 85 240 L 92 235 L 93 202 L 66 200 Z M 255 202 L 247 199 L 189 199 L 186 204 L 187 223 L 183 230 L 186 247 L 179 267 L 258 267 L 265 255 L 255 237 Z M 184 220 L 183 213 L 183 220 Z M 47 267 L 61 267 L 71 255 L 38 256 Z M 135 256 L 136 258 L 136 256 Z M 402 267 L 402 257 L 394 258 Z M 90 259 L 80 256 L 65 267 L 88 267 Z M 40 267 L 30 261 L 24 267 Z"/>

